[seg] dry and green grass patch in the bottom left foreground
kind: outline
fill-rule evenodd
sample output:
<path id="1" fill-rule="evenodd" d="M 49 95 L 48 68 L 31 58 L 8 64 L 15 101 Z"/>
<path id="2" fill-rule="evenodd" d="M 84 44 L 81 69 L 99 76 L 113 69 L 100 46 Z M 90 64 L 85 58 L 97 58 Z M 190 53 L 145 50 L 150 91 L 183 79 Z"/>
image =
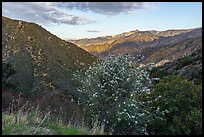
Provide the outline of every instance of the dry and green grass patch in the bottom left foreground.
<path id="1" fill-rule="evenodd" d="M 50 111 L 42 112 L 39 107 L 25 109 L 28 102 L 18 108 L 18 111 L 2 112 L 3 135 L 104 135 L 103 127 L 94 122 L 92 129 L 85 126 L 84 122 L 64 124 L 63 119 L 52 120 Z"/>

